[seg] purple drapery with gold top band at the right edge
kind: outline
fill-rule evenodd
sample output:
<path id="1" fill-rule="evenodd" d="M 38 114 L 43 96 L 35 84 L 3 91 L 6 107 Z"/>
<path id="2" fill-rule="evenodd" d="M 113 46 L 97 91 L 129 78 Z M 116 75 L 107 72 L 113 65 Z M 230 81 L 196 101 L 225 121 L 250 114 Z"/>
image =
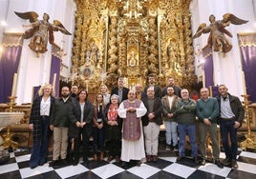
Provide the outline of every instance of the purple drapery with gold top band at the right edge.
<path id="1" fill-rule="evenodd" d="M 246 93 L 250 101 L 256 102 L 256 33 L 238 34 L 242 55 L 242 67 L 245 72 Z M 244 88 L 244 87 L 241 87 Z"/>

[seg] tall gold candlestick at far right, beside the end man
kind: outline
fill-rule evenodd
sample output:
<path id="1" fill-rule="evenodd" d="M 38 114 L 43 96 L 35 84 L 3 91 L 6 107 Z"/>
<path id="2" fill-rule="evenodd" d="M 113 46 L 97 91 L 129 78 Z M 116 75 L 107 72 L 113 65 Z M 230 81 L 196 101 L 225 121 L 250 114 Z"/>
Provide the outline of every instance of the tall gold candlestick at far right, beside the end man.
<path id="1" fill-rule="evenodd" d="M 249 97 L 248 94 L 243 94 L 242 97 L 245 98 L 244 104 L 245 104 L 245 120 L 247 125 L 247 134 L 245 134 L 246 139 L 240 144 L 240 147 L 243 150 L 256 149 L 256 143 L 253 141 L 253 136 L 251 134 L 251 128 L 250 128 L 251 115 L 249 114 L 248 105 L 250 105 L 251 102 L 248 100 L 248 97 Z"/>

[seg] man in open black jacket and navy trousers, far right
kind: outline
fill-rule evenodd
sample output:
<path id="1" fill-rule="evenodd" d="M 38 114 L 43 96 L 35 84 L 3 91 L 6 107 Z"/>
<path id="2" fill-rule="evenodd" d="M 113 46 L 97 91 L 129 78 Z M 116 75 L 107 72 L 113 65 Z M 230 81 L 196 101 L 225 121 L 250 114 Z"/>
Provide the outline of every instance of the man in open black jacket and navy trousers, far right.
<path id="1" fill-rule="evenodd" d="M 227 92 L 224 85 L 219 86 L 220 95 L 217 97 L 220 106 L 220 125 L 221 135 L 225 152 L 224 165 L 231 165 L 238 169 L 237 165 L 237 129 L 242 126 L 245 109 L 240 99 Z M 230 136 L 231 146 L 228 144 L 228 134 Z"/>

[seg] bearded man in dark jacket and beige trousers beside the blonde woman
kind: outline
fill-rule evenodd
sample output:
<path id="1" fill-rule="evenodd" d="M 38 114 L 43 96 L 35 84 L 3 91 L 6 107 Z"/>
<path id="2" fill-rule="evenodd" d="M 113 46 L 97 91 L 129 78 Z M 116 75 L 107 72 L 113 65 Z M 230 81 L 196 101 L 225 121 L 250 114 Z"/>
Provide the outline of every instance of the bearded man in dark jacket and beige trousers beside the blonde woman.
<path id="1" fill-rule="evenodd" d="M 70 97 L 70 88 L 62 87 L 61 97 L 55 100 L 53 115 L 50 118 L 50 129 L 53 130 L 53 161 L 49 167 L 56 166 L 60 157 L 60 165 L 66 165 L 68 148 L 69 110 L 75 103 Z"/>

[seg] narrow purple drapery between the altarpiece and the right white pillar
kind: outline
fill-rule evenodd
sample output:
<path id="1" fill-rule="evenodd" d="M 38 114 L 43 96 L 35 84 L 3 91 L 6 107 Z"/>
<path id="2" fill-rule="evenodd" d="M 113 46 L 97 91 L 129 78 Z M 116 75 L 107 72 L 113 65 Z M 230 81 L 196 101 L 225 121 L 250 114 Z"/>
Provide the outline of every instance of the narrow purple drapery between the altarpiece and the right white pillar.
<path id="1" fill-rule="evenodd" d="M 203 48 L 203 59 L 205 60 L 204 61 L 205 87 L 208 88 L 214 85 L 212 51 L 207 48 Z"/>

